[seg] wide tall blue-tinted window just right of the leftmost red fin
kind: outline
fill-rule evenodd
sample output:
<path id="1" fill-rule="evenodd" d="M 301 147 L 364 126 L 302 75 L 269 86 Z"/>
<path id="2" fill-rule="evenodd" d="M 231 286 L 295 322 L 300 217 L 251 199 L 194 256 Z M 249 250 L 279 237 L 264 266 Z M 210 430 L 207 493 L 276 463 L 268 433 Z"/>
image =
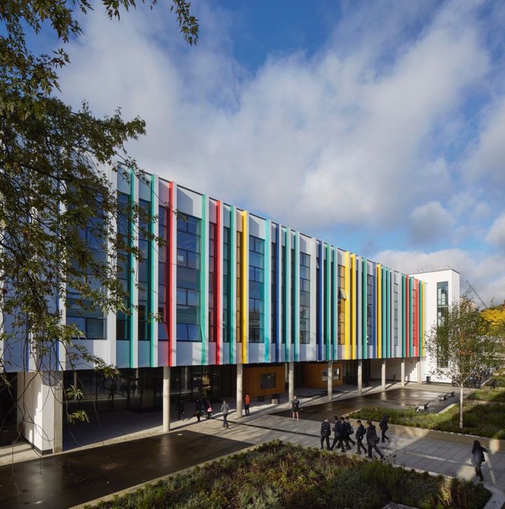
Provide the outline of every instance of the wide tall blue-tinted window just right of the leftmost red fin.
<path id="1" fill-rule="evenodd" d="M 201 341 L 201 220 L 177 217 L 177 340 Z"/>

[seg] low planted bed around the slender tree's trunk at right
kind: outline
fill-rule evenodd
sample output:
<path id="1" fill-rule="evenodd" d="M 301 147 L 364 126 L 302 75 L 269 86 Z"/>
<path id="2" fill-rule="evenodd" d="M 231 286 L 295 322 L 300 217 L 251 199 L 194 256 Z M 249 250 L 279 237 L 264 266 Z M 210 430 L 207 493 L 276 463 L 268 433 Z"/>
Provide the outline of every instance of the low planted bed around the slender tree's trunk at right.
<path id="1" fill-rule="evenodd" d="M 463 429 L 460 429 L 460 406 L 453 406 L 441 414 L 424 414 L 413 408 L 396 410 L 383 407 L 363 407 L 349 414 L 351 418 L 380 421 L 389 416 L 390 424 L 453 431 L 475 436 L 505 439 L 505 405 L 501 403 L 463 403 Z"/>

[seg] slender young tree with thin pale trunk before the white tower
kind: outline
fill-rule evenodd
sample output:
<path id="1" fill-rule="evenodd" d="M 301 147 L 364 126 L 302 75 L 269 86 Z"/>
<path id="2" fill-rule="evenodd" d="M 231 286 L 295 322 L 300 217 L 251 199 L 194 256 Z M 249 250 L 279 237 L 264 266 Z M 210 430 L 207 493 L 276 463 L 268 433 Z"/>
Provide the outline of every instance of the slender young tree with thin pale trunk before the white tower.
<path id="1" fill-rule="evenodd" d="M 471 300 L 455 301 L 427 335 L 433 374 L 450 378 L 460 388 L 460 428 L 463 427 L 463 387 L 471 377 L 496 362 L 500 344 L 489 322 Z"/>

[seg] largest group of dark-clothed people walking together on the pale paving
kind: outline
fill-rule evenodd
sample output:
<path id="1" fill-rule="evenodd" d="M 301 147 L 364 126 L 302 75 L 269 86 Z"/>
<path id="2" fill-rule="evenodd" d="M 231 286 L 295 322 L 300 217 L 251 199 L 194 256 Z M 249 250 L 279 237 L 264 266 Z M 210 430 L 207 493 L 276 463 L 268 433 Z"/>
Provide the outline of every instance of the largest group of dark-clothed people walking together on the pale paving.
<path id="1" fill-rule="evenodd" d="M 381 439 L 377 436 L 377 429 L 372 421 L 366 421 L 367 427 L 363 426 L 361 420 L 357 421 L 357 429 L 356 431 L 353 429 L 348 416 L 342 416 L 338 418 L 335 416 L 335 424 L 333 425 L 333 443 L 330 446 L 330 436 L 331 436 L 331 425 L 328 419 L 324 419 L 321 424 L 321 449 L 324 448 L 324 442 L 326 442 L 326 449 L 328 451 L 333 451 L 335 447 L 340 449 L 341 452 L 345 453 L 346 450 L 350 450 L 351 447 L 349 444 L 352 444 L 354 447 L 357 446 L 357 453 L 361 454 L 361 449 L 365 454 L 368 454 L 368 458 L 372 458 L 372 451 L 375 451 L 381 457 L 381 460 L 384 459 L 384 454 L 377 447 L 377 444 L 382 441 L 388 440 L 391 442 L 390 438 L 386 436 L 386 431 L 388 431 L 388 417 L 382 416 L 381 422 L 379 423 L 379 428 L 381 429 Z M 352 440 L 351 436 L 355 435 L 356 441 Z M 366 442 L 366 446 L 363 444 L 363 440 Z"/>

